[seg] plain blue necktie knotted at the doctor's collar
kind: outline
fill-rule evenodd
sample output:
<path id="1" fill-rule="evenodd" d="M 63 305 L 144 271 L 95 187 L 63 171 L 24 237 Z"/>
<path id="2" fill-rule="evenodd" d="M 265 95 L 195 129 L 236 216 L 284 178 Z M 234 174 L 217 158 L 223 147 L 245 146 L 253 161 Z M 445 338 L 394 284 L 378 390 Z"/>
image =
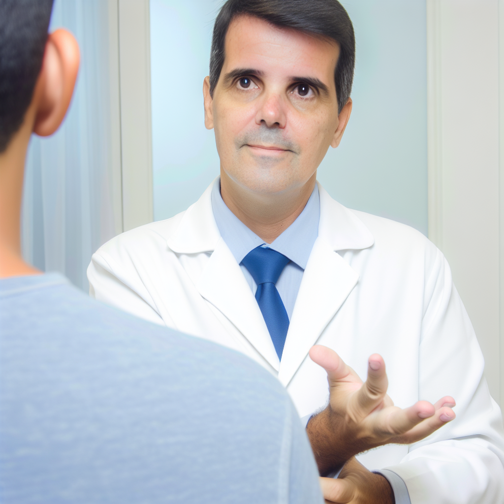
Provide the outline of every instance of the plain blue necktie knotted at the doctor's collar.
<path id="1" fill-rule="evenodd" d="M 262 246 L 250 250 L 241 262 L 257 283 L 256 299 L 279 359 L 289 330 L 289 317 L 275 284 L 289 262 L 283 254 Z"/>

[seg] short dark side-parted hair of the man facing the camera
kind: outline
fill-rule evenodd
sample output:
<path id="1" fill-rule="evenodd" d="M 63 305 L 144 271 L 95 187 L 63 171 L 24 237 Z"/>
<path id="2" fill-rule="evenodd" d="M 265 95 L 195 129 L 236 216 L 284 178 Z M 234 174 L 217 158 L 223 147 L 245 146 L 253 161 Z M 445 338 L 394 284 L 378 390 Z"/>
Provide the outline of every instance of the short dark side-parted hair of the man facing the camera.
<path id="1" fill-rule="evenodd" d="M 338 113 L 352 91 L 355 35 L 352 22 L 337 0 L 227 0 L 214 24 L 210 52 L 210 95 L 213 96 L 224 65 L 224 42 L 236 16 L 254 16 L 280 28 L 338 42 L 340 56 L 334 70 Z"/>

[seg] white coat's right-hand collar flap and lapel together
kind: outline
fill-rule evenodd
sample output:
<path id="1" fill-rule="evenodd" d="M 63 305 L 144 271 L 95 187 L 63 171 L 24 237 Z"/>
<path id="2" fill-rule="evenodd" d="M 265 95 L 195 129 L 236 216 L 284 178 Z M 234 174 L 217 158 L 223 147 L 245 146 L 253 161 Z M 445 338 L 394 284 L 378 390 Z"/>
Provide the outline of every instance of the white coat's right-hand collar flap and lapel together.
<path id="1" fill-rule="evenodd" d="M 362 221 L 320 184 L 319 195 L 319 236 L 304 270 L 278 373 L 285 387 L 359 280 L 336 251 L 368 248 L 374 243 Z"/>

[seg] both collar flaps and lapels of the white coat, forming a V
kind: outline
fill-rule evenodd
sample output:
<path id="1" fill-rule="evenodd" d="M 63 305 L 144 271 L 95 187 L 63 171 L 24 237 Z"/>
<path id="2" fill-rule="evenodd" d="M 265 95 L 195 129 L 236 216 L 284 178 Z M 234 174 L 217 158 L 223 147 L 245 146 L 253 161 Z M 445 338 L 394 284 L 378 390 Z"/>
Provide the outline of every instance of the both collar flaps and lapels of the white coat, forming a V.
<path id="1" fill-rule="evenodd" d="M 178 254 L 212 253 L 196 288 L 279 370 L 279 379 L 287 386 L 358 281 L 357 272 L 336 251 L 370 247 L 374 238 L 351 210 L 319 184 L 319 237 L 303 274 L 280 364 L 259 305 L 220 236 L 212 212 L 213 183 L 173 222 L 168 246 Z"/>

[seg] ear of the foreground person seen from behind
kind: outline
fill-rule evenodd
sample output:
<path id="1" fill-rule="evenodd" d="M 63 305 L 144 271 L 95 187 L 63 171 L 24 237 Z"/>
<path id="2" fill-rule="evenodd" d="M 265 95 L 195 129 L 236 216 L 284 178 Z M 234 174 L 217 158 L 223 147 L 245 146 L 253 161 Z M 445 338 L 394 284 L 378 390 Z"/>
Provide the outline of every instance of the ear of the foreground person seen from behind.
<path id="1" fill-rule="evenodd" d="M 74 92 L 79 59 L 79 45 L 70 32 L 59 29 L 48 36 L 33 94 L 36 102 L 33 132 L 37 135 L 52 135 L 64 119 Z"/>

